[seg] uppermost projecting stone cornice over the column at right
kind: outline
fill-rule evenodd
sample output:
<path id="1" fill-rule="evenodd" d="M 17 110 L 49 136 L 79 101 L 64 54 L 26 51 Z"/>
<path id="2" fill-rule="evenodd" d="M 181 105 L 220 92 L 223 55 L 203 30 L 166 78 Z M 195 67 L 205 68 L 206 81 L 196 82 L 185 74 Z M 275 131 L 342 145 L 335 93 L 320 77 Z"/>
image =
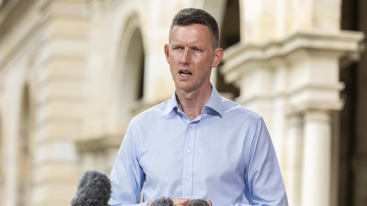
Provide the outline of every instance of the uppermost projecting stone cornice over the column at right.
<path id="1" fill-rule="evenodd" d="M 363 32 L 331 33 L 316 30 L 294 32 L 280 40 L 264 44 L 237 43 L 226 49 L 223 58 L 224 65 L 220 72 L 224 74 L 227 83 L 236 82 L 240 76 L 252 68 L 248 65 L 255 63 L 271 67 L 273 59 L 284 59 L 298 49 L 332 52 L 339 57 L 355 56 L 362 51 L 361 41 L 363 39 Z"/>

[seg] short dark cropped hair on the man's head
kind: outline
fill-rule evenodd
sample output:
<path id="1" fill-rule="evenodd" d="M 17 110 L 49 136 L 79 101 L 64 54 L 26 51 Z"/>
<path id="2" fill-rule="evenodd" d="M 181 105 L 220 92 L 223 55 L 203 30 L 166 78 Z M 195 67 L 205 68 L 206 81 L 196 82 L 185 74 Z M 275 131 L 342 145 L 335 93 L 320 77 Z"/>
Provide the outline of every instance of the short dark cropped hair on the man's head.
<path id="1" fill-rule="evenodd" d="M 199 8 L 184 8 L 177 12 L 175 17 L 172 19 L 170 34 L 168 36 L 168 43 L 171 43 L 171 33 L 175 25 L 191 25 L 191 24 L 202 24 L 209 28 L 211 34 L 211 41 L 213 48 L 219 47 L 219 26 L 214 17 L 208 12 Z"/>

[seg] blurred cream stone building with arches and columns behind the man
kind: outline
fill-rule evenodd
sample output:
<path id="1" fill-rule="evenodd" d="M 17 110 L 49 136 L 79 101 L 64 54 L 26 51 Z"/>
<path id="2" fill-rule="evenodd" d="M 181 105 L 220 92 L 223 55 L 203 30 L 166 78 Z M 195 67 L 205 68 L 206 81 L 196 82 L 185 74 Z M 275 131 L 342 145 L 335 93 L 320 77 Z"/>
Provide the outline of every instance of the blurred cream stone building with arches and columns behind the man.
<path id="1" fill-rule="evenodd" d="M 367 205 L 364 0 L 0 0 L 0 205 L 65 206 L 174 91 L 174 14 L 221 27 L 211 81 L 265 119 L 291 206 Z M 152 131 L 154 132 L 154 131 Z"/>

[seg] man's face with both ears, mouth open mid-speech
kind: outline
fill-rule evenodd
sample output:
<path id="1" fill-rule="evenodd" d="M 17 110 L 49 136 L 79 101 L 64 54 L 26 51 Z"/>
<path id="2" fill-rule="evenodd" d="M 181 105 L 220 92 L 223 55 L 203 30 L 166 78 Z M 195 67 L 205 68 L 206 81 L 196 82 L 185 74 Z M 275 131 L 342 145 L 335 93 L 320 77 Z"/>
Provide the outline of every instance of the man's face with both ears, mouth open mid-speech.
<path id="1" fill-rule="evenodd" d="M 164 52 L 176 89 L 186 92 L 209 84 L 211 68 L 223 57 L 223 49 L 212 48 L 209 28 L 201 24 L 174 26 Z"/>

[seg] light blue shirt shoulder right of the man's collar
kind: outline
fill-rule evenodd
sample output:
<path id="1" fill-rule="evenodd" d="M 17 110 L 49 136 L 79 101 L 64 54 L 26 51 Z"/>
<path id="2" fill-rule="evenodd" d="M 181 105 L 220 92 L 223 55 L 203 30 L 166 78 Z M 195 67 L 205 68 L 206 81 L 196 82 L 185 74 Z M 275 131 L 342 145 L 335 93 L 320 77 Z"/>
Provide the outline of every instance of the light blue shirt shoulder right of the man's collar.
<path id="1" fill-rule="evenodd" d="M 261 119 L 261 115 L 258 113 L 246 108 L 245 106 L 233 102 L 232 100 L 226 99 L 224 97 L 222 98 L 222 105 L 223 105 L 223 111 L 224 113 L 229 113 L 231 116 L 241 116 L 243 118 L 251 119 L 252 121 L 257 122 L 259 119 Z"/>

